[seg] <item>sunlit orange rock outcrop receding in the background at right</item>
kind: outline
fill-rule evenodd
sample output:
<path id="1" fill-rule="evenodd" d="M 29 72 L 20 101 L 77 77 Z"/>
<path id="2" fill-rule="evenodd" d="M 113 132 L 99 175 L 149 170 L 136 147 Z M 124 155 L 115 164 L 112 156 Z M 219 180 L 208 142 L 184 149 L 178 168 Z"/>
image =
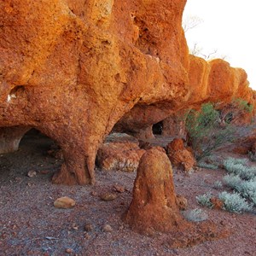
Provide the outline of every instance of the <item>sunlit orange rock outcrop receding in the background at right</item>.
<path id="1" fill-rule="evenodd" d="M 173 131 L 183 131 L 182 119 L 189 108 L 200 108 L 205 102 L 218 102 L 218 109 L 223 113 L 235 112 L 234 99 L 241 99 L 255 106 L 255 92 L 248 87 L 247 73 L 241 68 L 230 67 L 227 61 L 216 59 L 206 61 L 189 55 L 189 99 L 183 110 L 163 120 L 163 135 L 177 135 Z M 235 106 L 236 107 L 236 106 Z M 240 109 L 241 110 L 241 109 Z M 223 114 L 224 115 L 224 114 Z M 253 113 L 241 112 L 236 116 L 236 123 L 249 124 Z"/>

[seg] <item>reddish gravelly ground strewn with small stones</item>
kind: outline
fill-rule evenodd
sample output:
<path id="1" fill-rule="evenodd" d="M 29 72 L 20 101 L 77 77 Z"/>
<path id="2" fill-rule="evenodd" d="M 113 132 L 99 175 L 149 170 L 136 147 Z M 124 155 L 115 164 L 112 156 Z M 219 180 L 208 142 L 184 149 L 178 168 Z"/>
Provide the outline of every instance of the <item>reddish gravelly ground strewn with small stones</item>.
<path id="1" fill-rule="evenodd" d="M 167 139 L 160 137 L 160 143 Z M 53 185 L 50 177 L 61 160 L 47 154 L 52 145 L 37 132 L 27 134 L 20 150 L 0 156 L 0 255 L 256 255 L 255 212 L 233 214 L 200 207 L 196 195 L 211 191 L 224 170 L 201 169 L 190 175 L 174 170 L 179 195 L 189 201 L 189 209 L 202 208 L 209 219 L 230 230 L 225 239 L 206 241 L 195 247 L 170 248 L 170 235 L 141 236 L 131 231 L 121 217 L 131 202 L 136 173 L 96 171 L 95 186 Z M 222 157 L 224 152 L 219 153 Z M 35 177 L 27 172 L 36 171 Z M 114 192 L 113 185 L 125 192 Z M 114 201 L 102 201 L 105 192 L 117 194 Z M 61 196 L 76 201 L 72 209 L 57 209 L 53 202 Z M 86 232 L 84 226 L 92 230 Z M 104 232 L 109 224 L 111 232 Z"/>

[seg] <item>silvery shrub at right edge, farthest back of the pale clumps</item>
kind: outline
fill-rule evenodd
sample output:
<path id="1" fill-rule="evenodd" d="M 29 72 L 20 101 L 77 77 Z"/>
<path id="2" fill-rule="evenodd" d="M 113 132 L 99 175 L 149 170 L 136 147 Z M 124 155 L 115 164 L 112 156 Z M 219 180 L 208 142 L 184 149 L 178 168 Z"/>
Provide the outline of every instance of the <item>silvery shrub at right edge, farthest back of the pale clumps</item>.
<path id="1" fill-rule="evenodd" d="M 242 179 L 250 180 L 256 177 L 256 168 L 247 166 L 247 160 L 229 158 L 224 160 L 224 168 L 230 174 L 235 174 Z"/>

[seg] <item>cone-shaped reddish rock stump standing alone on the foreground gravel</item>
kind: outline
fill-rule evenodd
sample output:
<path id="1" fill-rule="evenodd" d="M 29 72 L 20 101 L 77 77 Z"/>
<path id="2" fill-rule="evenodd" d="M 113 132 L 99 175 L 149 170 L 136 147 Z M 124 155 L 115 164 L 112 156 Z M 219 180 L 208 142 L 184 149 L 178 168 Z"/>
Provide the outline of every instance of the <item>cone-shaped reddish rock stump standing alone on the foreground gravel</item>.
<path id="1" fill-rule="evenodd" d="M 177 206 L 172 166 L 163 148 L 151 148 L 143 155 L 125 222 L 143 234 L 183 230 L 186 221 Z"/>

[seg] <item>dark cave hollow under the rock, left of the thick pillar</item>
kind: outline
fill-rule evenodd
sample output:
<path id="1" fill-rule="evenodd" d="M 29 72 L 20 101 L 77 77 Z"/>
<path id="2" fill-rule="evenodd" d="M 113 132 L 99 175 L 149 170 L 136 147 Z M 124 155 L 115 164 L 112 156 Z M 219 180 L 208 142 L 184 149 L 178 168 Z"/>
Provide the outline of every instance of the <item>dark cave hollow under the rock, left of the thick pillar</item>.
<path id="1" fill-rule="evenodd" d="M 9 127 L 14 131 L 19 127 Z M 15 130 L 16 131 L 16 130 Z M 0 154 L 0 183 L 32 183 L 36 179 L 49 182 L 52 175 L 61 168 L 61 149 L 54 140 L 36 129 L 27 127 L 19 137 L 10 137 L 9 143 L 18 140 L 18 147 Z M 30 177 L 32 176 L 32 177 Z M 29 179 L 31 178 L 31 179 Z"/>

